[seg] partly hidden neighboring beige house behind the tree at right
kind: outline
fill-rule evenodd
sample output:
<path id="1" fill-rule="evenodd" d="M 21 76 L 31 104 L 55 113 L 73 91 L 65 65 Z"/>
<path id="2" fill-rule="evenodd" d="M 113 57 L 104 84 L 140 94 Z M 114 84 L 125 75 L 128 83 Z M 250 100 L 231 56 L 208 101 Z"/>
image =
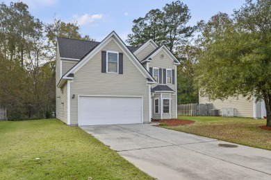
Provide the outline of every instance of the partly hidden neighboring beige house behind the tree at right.
<path id="1" fill-rule="evenodd" d="M 238 99 L 230 97 L 223 101 L 208 101 L 208 98 L 199 96 L 199 104 L 205 103 L 213 103 L 213 108 L 220 109 L 220 111 L 222 111 L 222 107 L 234 108 L 234 116 L 237 117 L 263 118 L 266 116 L 265 102 L 256 102 L 255 98 L 247 100 L 247 98 L 240 96 Z"/>

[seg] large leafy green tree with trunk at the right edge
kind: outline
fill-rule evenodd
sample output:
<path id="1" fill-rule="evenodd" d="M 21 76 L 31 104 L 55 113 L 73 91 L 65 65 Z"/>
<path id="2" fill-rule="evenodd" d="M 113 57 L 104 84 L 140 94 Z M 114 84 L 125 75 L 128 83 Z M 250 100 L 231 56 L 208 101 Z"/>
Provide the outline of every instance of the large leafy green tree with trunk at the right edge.
<path id="1" fill-rule="evenodd" d="M 271 127 L 271 1 L 247 0 L 233 17 L 219 13 L 201 22 L 202 54 L 196 66 L 202 96 L 240 95 L 265 101 Z"/>

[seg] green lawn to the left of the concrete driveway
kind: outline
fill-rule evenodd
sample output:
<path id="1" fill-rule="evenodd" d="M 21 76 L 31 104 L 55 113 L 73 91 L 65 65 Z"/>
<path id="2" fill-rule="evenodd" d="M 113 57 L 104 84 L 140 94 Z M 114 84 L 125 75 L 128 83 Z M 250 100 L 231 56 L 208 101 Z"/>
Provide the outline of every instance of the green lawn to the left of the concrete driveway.
<path id="1" fill-rule="evenodd" d="M 152 179 L 59 120 L 0 122 L 0 179 Z"/>

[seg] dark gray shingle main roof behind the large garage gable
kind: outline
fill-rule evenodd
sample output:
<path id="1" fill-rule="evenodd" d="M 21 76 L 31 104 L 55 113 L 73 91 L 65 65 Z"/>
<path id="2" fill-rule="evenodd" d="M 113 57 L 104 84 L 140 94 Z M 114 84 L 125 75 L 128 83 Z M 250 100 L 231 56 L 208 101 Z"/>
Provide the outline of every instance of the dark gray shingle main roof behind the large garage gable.
<path id="1" fill-rule="evenodd" d="M 82 57 L 90 53 L 100 44 L 100 42 L 90 42 L 80 39 L 69 39 L 66 37 L 57 37 L 60 57 L 73 58 L 81 60 Z M 138 48 L 127 46 L 133 53 Z"/>

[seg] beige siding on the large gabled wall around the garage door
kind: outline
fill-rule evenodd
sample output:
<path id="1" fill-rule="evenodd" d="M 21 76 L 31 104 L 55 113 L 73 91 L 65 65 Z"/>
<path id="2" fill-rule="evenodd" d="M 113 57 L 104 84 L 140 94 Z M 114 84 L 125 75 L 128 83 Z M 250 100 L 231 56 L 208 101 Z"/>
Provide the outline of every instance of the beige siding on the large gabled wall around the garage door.
<path id="1" fill-rule="evenodd" d="M 102 51 L 123 53 L 123 74 L 101 73 L 101 51 L 74 73 L 71 82 L 71 125 L 78 124 L 78 95 L 138 96 L 143 100 L 143 121 L 149 122 L 149 86 L 146 78 L 112 38 Z"/>

